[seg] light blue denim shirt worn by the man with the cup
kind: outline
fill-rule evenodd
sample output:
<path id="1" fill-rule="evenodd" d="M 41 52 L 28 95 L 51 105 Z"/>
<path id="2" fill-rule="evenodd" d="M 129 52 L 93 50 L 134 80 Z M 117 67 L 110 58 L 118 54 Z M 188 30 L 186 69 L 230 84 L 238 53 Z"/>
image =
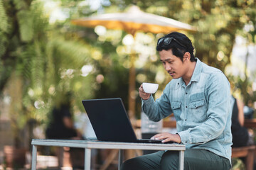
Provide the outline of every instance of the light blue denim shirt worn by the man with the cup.
<path id="1" fill-rule="evenodd" d="M 231 162 L 230 84 L 219 69 L 196 59 L 187 86 L 182 78 L 172 79 L 156 101 L 142 100 L 142 110 L 153 121 L 174 113 L 186 148 L 207 149 Z"/>

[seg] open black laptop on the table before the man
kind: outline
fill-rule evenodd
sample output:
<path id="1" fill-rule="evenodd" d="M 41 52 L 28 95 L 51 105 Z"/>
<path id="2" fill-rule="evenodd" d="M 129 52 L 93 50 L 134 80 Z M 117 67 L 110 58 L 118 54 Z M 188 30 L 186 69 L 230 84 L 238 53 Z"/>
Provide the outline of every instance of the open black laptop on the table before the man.
<path id="1" fill-rule="evenodd" d="M 137 139 L 121 98 L 82 100 L 97 140 L 107 142 L 161 143 Z M 170 142 L 168 142 L 170 143 Z"/>

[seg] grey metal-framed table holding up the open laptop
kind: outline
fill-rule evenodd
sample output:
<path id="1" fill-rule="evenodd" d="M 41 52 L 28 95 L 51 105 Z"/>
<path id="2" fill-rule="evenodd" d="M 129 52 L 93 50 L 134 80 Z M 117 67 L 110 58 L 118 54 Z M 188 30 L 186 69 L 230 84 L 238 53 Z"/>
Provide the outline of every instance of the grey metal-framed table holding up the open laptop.
<path id="1" fill-rule="evenodd" d="M 119 149 L 118 169 L 123 162 L 124 149 L 147 150 L 173 150 L 179 152 L 178 169 L 183 170 L 185 145 L 181 144 L 154 144 L 154 143 L 130 143 L 130 142 L 102 142 L 90 140 L 38 140 L 33 139 L 31 170 L 36 170 L 37 146 L 49 147 L 78 147 L 85 149 L 85 170 L 90 170 L 91 149 Z"/>

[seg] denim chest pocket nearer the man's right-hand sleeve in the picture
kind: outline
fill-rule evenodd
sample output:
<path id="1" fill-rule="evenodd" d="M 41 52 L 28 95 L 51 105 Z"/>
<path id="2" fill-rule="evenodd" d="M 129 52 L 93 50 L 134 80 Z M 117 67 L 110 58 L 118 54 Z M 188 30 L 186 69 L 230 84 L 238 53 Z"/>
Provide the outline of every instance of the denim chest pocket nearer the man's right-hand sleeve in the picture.
<path id="1" fill-rule="evenodd" d="M 191 120 L 196 123 L 202 123 L 206 121 L 207 114 L 206 114 L 206 102 L 203 98 L 198 98 L 195 101 L 191 101 L 188 105 L 189 114 Z"/>

